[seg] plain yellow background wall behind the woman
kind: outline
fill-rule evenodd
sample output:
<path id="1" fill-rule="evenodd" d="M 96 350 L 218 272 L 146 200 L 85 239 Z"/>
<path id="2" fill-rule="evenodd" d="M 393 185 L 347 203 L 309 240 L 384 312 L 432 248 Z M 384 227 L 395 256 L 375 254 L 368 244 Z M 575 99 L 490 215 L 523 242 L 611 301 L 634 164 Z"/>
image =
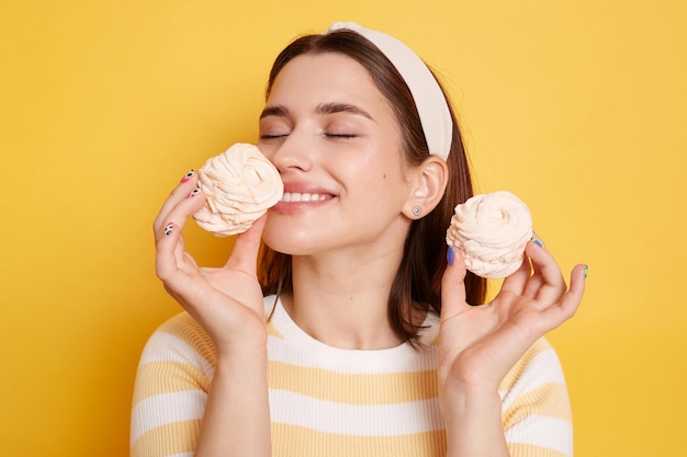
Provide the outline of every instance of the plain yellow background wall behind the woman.
<path id="1" fill-rule="evenodd" d="M 127 454 L 142 346 L 179 311 L 154 276 L 158 207 L 256 139 L 291 38 L 354 20 L 443 76 L 478 190 L 518 194 L 566 271 L 589 264 L 551 334 L 576 455 L 685 455 L 684 4 L 2 1 L 2 454 Z M 230 241 L 187 232 L 201 262 L 226 258 Z"/>

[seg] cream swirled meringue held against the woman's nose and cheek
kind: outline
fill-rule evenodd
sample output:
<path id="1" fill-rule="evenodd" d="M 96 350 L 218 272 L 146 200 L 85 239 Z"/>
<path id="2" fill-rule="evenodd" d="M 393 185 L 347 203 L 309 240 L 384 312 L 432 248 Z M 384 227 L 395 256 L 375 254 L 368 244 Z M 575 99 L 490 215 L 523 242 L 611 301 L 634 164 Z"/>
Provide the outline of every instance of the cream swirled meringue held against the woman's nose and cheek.
<path id="1" fill-rule="evenodd" d="M 210 158 L 198 175 L 206 199 L 193 218 L 218 237 L 248 230 L 284 193 L 277 168 L 249 144 L 237 142 Z"/>

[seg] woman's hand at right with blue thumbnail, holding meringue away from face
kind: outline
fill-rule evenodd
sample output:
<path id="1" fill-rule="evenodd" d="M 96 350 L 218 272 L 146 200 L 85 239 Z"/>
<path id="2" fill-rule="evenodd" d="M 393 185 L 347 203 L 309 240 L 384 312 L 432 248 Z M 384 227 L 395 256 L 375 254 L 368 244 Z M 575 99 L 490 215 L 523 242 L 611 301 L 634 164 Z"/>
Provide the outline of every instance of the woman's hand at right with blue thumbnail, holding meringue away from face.
<path id="1" fill-rule="evenodd" d="M 530 241 L 520 269 L 491 304 L 465 301 L 465 265 L 457 250 L 442 281 L 438 376 L 442 397 L 457 389 L 496 392 L 504 377 L 544 333 L 573 317 L 585 288 L 577 265 L 567 288 L 553 256 Z"/>

